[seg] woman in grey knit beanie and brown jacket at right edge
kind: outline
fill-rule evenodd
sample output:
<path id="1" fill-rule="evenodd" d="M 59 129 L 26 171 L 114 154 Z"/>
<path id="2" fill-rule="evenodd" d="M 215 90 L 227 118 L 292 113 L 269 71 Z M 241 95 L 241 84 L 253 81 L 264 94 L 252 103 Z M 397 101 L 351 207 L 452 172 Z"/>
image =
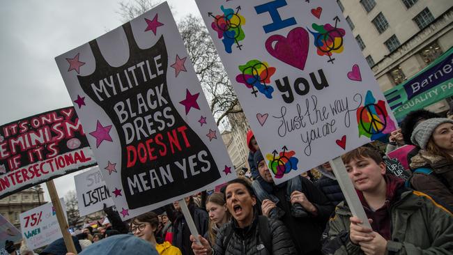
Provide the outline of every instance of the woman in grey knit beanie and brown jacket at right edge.
<path id="1" fill-rule="evenodd" d="M 410 185 L 453 208 L 453 121 L 430 118 L 415 127 L 410 140 L 420 146 L 412 157 Z"/>

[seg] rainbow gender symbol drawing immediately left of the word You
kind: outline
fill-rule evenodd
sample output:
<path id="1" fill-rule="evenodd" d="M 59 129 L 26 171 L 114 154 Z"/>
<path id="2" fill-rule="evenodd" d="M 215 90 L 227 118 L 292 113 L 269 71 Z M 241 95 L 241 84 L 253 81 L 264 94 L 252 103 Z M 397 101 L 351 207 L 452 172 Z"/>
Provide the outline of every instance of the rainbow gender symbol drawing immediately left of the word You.
<path id="1" fill-rule="evenodd" d="M 262 93 L 271 99 L 274 88 L 270 84 L 270 77 L 274 75 L 276 68 L 272 68 L 266 62 L 257 59 L 247 61 L 245 65 L 239 65 L 240 74 L 236 76 L 236 82 L 242 83 L 247 88 L 252 88 L 252 94 Z M 256 91 L 256 89 L 258 91 Z"/>

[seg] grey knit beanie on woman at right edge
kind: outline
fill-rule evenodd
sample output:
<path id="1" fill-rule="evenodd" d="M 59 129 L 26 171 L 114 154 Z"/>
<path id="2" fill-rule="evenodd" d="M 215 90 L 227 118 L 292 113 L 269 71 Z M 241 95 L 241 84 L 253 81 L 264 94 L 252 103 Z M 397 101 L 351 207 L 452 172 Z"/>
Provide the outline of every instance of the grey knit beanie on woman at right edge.
<path id="1" fill-rule="evenodd" d="M 426 149 L 429 137 L 431 137 L 431 134 L 433 134 L 436 127 L 443 123 L 453 124 L 453 121 L 449 118 L 429 118 L 426 121 L 422 121 L 415 127 L 412 136 L 410 136 L 410 141 L 412 141 L 413 144 L 420 146 L 420 148 Z"/>

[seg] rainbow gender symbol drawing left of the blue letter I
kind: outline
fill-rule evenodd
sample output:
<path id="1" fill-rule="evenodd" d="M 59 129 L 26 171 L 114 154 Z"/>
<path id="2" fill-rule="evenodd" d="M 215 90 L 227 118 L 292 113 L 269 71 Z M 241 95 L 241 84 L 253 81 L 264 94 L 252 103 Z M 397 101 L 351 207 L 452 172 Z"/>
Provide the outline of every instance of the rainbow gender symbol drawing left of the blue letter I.
<path id="1" fill-rule="evenodd" d="M 217 32 L 219 39 L 222 39 L 225 52 L 233 52 L 233 44 L 236 43 L 238 49 L 242 49 L 243 45 L 239 42 L 244 40 L 245 33 L 242 29 L 242 25 L 245 24 L 245 17 L 239 14 L 240 6 L 236 8 L 236 12 L 232 8 L 224 8 L 220 6 L 223 15 L 213 15 L 208 13 L 210 17 L 214 18 L 213 23 L 210 26 Z"/>

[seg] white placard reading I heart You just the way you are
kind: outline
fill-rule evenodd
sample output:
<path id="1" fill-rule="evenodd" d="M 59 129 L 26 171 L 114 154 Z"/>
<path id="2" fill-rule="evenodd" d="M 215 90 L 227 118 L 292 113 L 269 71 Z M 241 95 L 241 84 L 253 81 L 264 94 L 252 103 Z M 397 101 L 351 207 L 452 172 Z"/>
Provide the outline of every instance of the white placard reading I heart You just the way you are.
<path id="1" fill-rule="evenodd" d="M 196 2 L 275 183 L 395 129 L 335 1 Z"/>

